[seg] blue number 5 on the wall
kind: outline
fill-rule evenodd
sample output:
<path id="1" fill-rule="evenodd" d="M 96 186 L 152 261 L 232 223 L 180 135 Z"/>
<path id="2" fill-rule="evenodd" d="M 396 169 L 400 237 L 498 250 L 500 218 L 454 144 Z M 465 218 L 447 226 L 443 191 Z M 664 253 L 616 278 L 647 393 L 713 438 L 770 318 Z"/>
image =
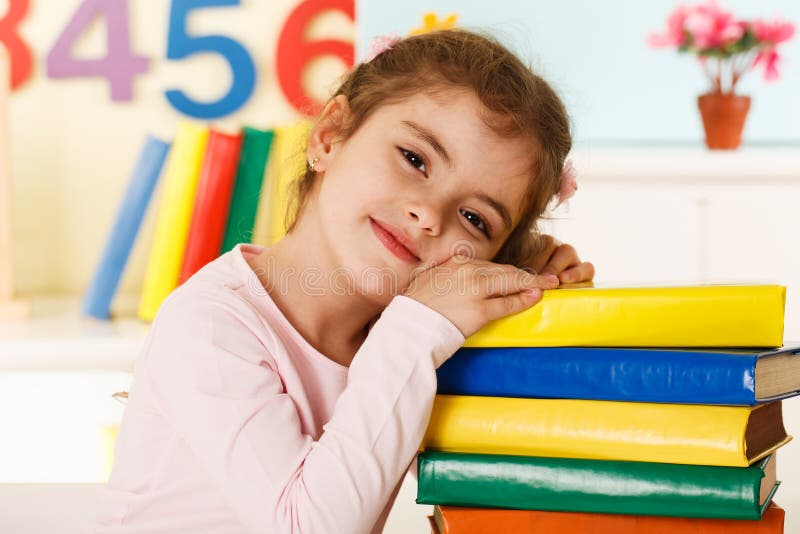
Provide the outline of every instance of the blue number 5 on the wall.
<path id="1" fill-rule="evenodd" d="M 197 102 L 180 89 L 164 94 L 176 110 L 198 119 L 215 119 L 233 113 L 253 94 L 256 68 L 250 54 L 237 41 L 223 35 L 191 36 L 186 32 L 186 19 L 193 9 L 238 6 L 240 0 L 172 0 L 167 35 L 167 59 L 183 59 L 192 54 L 216 53 L 231 66 L 233 82 L 228 93 L 215 102 Z"/>

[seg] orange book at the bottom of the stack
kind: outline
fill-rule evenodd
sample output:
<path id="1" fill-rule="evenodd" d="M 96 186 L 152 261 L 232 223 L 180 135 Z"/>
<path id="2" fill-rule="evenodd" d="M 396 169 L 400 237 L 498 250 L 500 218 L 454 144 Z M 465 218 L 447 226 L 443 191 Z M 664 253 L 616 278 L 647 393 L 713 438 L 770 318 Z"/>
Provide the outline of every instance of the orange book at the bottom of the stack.
<path id="1" fill-rule="evenodd" d="M 782 534 L 783 508 L 772 503 L 759 521 L 696 519 L 645 515 L 588 514 L 436 506 L 431 531 L 436 534 L 485 532 L 558 532 L 559 534 Z"/>

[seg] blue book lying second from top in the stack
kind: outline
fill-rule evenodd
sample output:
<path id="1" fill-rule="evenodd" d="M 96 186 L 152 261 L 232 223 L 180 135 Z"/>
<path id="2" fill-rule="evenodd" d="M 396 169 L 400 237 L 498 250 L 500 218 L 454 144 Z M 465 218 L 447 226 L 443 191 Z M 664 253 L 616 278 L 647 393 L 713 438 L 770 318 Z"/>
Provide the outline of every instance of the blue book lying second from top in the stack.
<path id="1" fill-rule="evenodd" d="M 753 406 L 800 393 L 800 345 L 462 348 L 437 377 L 446 395 Z"/>

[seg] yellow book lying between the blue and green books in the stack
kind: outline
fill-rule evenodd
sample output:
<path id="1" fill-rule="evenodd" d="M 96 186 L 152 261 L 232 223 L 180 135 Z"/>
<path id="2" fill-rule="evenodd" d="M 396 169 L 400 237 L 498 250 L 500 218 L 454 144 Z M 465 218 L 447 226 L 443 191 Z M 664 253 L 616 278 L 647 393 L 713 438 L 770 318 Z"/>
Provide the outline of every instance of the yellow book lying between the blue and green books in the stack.
<path id="1" fill-rule="evenodd" d="M 437 395 L 423 449 L 745 467 L 790 439 L 780 401 L 752 407 Z"/>

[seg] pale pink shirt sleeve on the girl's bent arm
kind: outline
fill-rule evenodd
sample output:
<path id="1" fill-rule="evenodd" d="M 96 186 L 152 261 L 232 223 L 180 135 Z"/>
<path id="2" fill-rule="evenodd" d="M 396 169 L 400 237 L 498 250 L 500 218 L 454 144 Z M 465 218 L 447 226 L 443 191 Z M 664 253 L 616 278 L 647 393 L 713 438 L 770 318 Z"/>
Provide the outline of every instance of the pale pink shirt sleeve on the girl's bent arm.
<path id="1" fill-rule="evenodd" d="M 464 343 L 461 332 L 395 297 L 314 441 L 283 389 L 275 347 L 247 326 L 254 312 L 202 296 L 178 291 L 165 301 L 142 365 L 157 406 L 242 523 L 253 533 L 308 534 L 366 533 L 385 521 L 430 417 L 435 370 Z"/>

